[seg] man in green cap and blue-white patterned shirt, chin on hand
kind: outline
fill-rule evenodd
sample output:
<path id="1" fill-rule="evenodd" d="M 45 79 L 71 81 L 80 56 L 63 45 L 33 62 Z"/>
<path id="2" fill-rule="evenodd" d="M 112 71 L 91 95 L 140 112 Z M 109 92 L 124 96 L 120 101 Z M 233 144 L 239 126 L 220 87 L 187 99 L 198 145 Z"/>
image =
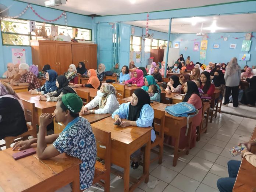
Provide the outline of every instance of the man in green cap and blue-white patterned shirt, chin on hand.
<path id="1" fill-rule="evenodd" d="M 82 99 L 74 93 L 67 93 L 56 104 L 55 115 L 49 113 L 40 116 L 38 138 L 15 143 L 13 149 L 24 150 L 37 142 L 39 159 L 55 157 L 60 153 L 82 160 L 80 164 L 80 189 L 84 190 L 92 185 L 95 162 L 97 156 L 96 140 L 88 120 L 79 117 L 83 106 Z M 60 134 L 45 136 L 45 130 L 55 118 L 56 122 L 63 122 L 65 129 Z M 47 146 L 46 143 L 52 143 Z"/>

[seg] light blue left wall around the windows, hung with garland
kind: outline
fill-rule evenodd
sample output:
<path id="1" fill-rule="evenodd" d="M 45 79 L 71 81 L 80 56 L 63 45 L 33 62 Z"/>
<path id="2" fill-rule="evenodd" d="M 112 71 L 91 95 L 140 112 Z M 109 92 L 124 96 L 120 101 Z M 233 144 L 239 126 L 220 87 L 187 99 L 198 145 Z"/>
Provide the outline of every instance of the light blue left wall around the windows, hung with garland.
<path id="1" fill-rule="evenodd" d="M 9 8 L 9 12 L 10 12 L 9 16 L 18 15 L 27 6 L 27 3 L 13 1 L 13 0 L 1 0 L 0 3 L 4 4 L 7 7 L 14 3 L 13 6 L 11 6 Z M 39 15 L 41 15 L 43 18 L 46 18 L 46 19 L 57 18 L 63 12 L 60 10 L 36 6 L 36 5 L 32 5 L 32 7 L 34 8 L 34 10 L 37 13 L 39 13 Z M 32 20 L 32 21 L 44 22 L 41 18 L 36 16 L 30 8 L 20 18 L 28 19 L 28 20 Z M 65 25 L 64 17 L 62 17 L 61 19 L 59 19 L 55 22 L 52 22 L 52 23 Z M 91 17 L 67 12 L 67 23 L 69 26 L 92 29 L 92 40 L 95 41 L 95 39 L 96 39 L 96 24 L 93 23 L 93 19 Z M 12 48 L 25 49 L 26 50 L 26 63 L 28 63 L 29 65 L 32 64 L 31 47 L 29 47 L 29 46 L 26 46 L 26 47 L 24 47 L 24 46 L 3 46 L 2 38 L 1 38 L 1 40 L 0 40 L 0 76 L 3 74 L 4 71 L 7 70 L 7 68 L 6 68 L 7 63 L 12 62 L 12 57 L 11 57 L 11 49 Z"/>

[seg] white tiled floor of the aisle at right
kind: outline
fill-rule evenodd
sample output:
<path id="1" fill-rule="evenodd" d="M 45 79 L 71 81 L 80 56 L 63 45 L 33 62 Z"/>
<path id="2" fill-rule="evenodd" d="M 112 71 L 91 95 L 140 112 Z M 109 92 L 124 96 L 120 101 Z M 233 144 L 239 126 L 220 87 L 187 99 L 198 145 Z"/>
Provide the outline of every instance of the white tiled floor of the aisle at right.
<path id="1" fill-rule="evenodd" d="M 225 111 L 253 115 L 256 107 L 240 106 L 235 109 L 232 103 L 223 107 Z M 227 162 L 240 160 L 240 156 L 232 157 L 228 149 L 239 142 L 248 141 L 255 128 L 256 120 L 235 115 L 218 114 L 212 123 L 208 124 L 207 133 L 196 142 L 189 155 L 179 158 L 177 166 L 173 167 L 173 149 L 164 147 L 163 163 L 157 161 L 150 165 L 149 181 L 159 180 L 154 189 L 142 182 L 135 192 L 217 192 L 216 182 L 221 177 L 227 177 Z M 4 149 L 4 148 L 2 148 Z M 116 166 L 117 167 L 117 166 Z M 137 177 L 142 173 L 142 167 L 131 169 L 131 175 Z M 123 179 L 111 175 L 111 192 L 123 191 Z M 93 185 L 86 192 L 100 192 L 104 188 Z"/>

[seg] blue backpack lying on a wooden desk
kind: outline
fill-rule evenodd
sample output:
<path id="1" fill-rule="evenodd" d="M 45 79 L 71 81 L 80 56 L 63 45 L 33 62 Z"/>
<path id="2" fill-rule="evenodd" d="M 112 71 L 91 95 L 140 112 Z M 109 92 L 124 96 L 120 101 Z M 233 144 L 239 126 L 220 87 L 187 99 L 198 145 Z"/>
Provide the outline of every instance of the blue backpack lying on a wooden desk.
<path id="1" fill-rule="evenodd" d="M 194 117 L 199 112 L 192 104 L 189 104 L 187 102 L 181 102 L 175 105 L 167 106 L 165 108 L 165 111 L 175 117 L 187 117 L 187 129 L 185 135 L 188 135 L 189 117 Z M 194 114 L 189 115 L 190 113 Z"/>

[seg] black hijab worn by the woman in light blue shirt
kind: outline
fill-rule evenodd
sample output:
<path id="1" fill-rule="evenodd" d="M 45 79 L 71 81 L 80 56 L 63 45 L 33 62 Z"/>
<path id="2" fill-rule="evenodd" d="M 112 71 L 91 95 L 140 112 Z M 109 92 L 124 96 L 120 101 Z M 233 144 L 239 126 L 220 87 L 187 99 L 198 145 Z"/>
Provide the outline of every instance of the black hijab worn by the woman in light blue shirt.
<path id="1" fill-rule="evenodd" d="M 143 89 L 135 89 L 134 94 L 138 97 L 138 104 L 136 106 L 132 106 L 131 103 L 129 105 L 129 114 L 128 120 L 136 121 L 141 114 L 141 109 L 145 104 L 150 105 L 150 97 L 149 94 Z"/>

